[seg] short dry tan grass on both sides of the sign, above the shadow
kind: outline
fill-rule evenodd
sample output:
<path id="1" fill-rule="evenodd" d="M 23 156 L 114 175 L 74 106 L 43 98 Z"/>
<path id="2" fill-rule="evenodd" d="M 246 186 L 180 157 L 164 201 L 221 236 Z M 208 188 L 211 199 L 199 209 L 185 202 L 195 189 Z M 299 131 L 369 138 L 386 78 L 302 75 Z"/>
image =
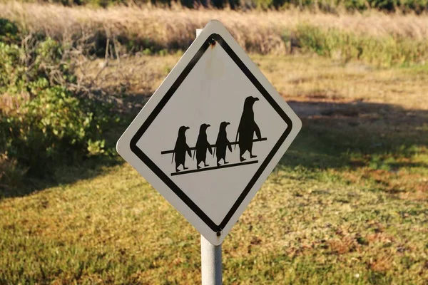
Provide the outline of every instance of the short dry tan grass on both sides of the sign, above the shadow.
<path id="1" fill-rule="evenodd" d="M 326 106 L 352 102 L 386 103 L 408 109 L 409 118 L 414 118 L 410 109 L 428 110 L 428 86 L 423 84 L 428 82 L 428 73 L 424 69 L 379 69 L 356 61 L 342 64 L 320 56 L 253 54 L 251 58 L 286 100 L 324 103 Z M 83 83 L 93 82 L 108 93 L 123 93 L 128 98 L 130 95 L 148 98 L 179 59 L 179 54 L 130 56 L 121 61 L 108 61 L 101 73 L 105 61 L 97 59 L 88 63 Z M 98 78 L 93 81 L 96 75 Z M 145 99 L 141 97 L 139 100 L 143 103 Z M 323 111 L 311 105 L 307 108 L 307 111 L 302 108 L 300 115 L 321 115 Z M 335 110 L 335 115 L 358 113 L 358 110 L 350 109 Z M 378 111 L 374 110 L 374 113 Z"/>

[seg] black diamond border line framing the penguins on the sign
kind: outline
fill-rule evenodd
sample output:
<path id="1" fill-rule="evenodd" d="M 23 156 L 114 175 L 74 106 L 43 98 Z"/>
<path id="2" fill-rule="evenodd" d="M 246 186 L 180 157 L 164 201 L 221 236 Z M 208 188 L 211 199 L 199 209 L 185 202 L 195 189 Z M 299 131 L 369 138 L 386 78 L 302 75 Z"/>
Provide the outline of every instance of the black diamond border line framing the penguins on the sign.
<path id="1" fill-rule="evenodd" d="M 272 108 L 274 108 L 277 113 L 280 115 L 282 120 L 287 123 L 287 128 L 285 129 L 285 132 L 282 133 L 280 139 L 275 143 L 272 150 L 267 155 L 266 159 L 261 163 L 259 169 L 255 172 L 255 175 L 251 178 L 248 185 L 245 187 L 241 195 L 238 197 L 238 199 L 235 201 L 233 206 L 230 208 L 228 214 L 226 214 L 225 218 L 220 224 L 215 224 L 210 217 L 208 217 L 207 214 L 203 212 L 200 207 L 198 207 L 195 202 L 193 202 L 185 193 L 180 190 L 180 187 L 175 185 L 175 183 L 170 180 L 168 175 L 166 175 L 138 146 L 137 142 L 140 140 L 140 138 L 143 136 L 143 134 L 146 132 L 148 127 L 153 123 L 153 120 L 155 120 L 156 116 L 161 113 L 161 110 L 163 107 L 168 103 L 168 100 L 173 96 L 175 93 L 175 90 L 178 89 L 181 83 L 185 80 L 185 78 L 188 76 L 192 68 L 195 66 L 195 64 L 199 61 L 199 59 L 203 56 L 205 51 L 211 46 L 215 45 L 216 43 L 220 43 L 220 46 L 225 50 L 226 53 L 232 58 L 232 60 L 236 63 L 236 65 L 240 68 L 241 71 L 245 74 L 245 76 L 248 77 L 248 79 L 251 81 L 251 83 L 254 84 L 255 88 L 259 90 L 259 92 L 265 97 L 267 102 L 272 105 Z M 228 224 L 230 219 L 232 218 L 233 214 L 235 214 L 238 207 L 240 207 L 240 204 L 243 202 L 245 197 L 248 195 L 248 192 L 252 189 L 253 185 L 255 185 L 255 182 L 258 180 L 260 175 L 262 175 L 263 171 L 269 164 L 270 160 L 272 160 L 272 157 L 275 155 L 277 150 L 280 148 L 282 143 L 285 141 L 287 136 L 290 134 L 292 129 L 292 121 L 287 116 L 287 114 L 280 108 L 280 105 L 278 105 L 275 100 L 272 98 L 272 96 L 265 90 L 265 88 L 262 86 L 262 84 L 255 78 L 253 73 L 248 69 L 247 66 L 243 63 L 243 61 L 240 60 L 240 58 L 236 55 L 236 53 L 230 48 L 228 43 L 225 42 L 225 40 L 218 34 L 218 33 L 212 33 L 208 38 L 204 41 L 203 45 L 199 48 L 198 52 L 193 56 L 191 61 L 188 63 L 187 66 L 185 66 L 183 72 L 178 76 L 178 78 L 175 80 L 173 85 L 169 88 L 169 90 L 165 93 L 161 101 L 156 105 L 156 108 L 153 109 L 152 113 L 148 115 L 148 118 L 146 121 L 141 125 L 141 128 L 138 129 L 136 134 L 133 136 L 130 142 L 131 151 L 137 155 L 156 175 L 158 175 L 159 178 L 170 187 L 170 189 L 177 195 L 185 204 L 188 205 L 190 209 L 195 212 L 195 214 L 200 217 L 200 219 L 205 222 L 205 224 L 210 227 L 214 232 L 220 233 L 222 229 Z"/>

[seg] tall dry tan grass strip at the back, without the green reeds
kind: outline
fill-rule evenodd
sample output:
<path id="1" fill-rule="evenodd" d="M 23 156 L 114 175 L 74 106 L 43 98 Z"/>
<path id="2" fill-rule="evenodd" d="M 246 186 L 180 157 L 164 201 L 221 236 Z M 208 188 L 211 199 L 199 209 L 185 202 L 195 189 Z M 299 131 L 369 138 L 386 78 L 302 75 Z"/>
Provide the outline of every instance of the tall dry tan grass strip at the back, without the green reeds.
<path id="1" fill-rule="evenodd" d="M 164 48 L 185 47 L 195 38 L 195 29 L 211 19 L 227 26 L 241 46 L 258 53 L 285 53 L 285 31 L 300 24 L 338 28 L 361 35 L 395 36 L 424 41 L 428 38 L 428 16 L 368 14 L 312 14 L 308 11 L 218 11 L 157 9 L 149 6 L 91 9 L 51 4 L 0 3 L 0 17 L 17 21 L 29 31 L 55 38 L 105 33 L 113 38 L 136 38 Z"/>

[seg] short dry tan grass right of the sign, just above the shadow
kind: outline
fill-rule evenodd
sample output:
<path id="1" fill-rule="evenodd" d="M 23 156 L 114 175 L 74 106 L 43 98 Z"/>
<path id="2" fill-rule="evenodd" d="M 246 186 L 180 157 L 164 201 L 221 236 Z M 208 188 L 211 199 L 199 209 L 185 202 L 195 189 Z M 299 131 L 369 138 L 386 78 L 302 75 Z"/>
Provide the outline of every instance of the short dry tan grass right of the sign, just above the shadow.
<path id="1" fill-rule="evenodd" d="M 428 82 L 424 69 L 379 69 L 357 61 L 342 64 L 318 56 L 255 55 L 253 60 L 287 100 L 365 102 L 428 110 L 428 86 L 421 84 Z"/>

